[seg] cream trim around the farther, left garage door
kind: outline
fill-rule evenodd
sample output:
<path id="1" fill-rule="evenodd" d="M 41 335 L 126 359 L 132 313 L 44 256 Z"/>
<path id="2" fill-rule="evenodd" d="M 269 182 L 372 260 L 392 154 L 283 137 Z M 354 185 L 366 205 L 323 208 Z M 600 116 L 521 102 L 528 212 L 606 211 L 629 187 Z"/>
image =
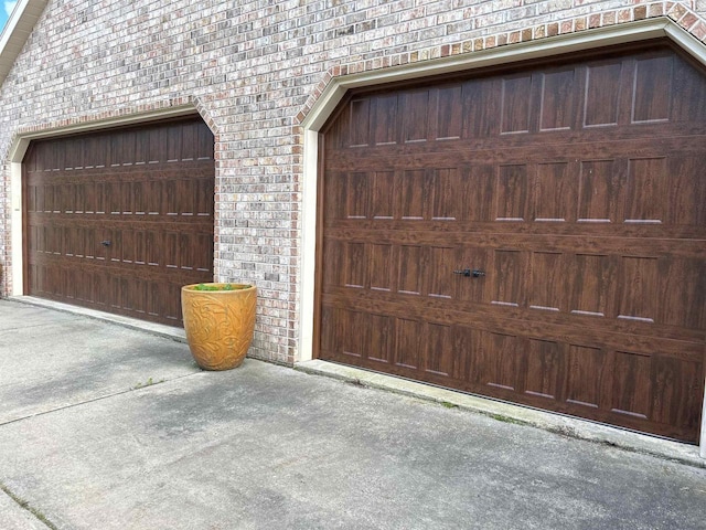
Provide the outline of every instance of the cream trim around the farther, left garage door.
<path id="1" fill-rule="evenodd" d="M 53 127 L 34 132 L 18 135 L 10 146 L 10 223 L 12 225 L 10 241 L 12 242 L 12 290 L 11 296 L 24 295 L 24 247 L 22 223 L 22 160 L 30 147 L 31 140 L 40 138 L 53 138 L 92 130 L 110 129 L 126 125 L 146 124 L 158 119 L 175 118 L 181 116 L 199 116 L 193 105 L 180 105 L 165 107 L 149 113 L 132 114 L 117 118 L 106 118 L 96 121 L 82 121 L 66 127 Z M 202 118 L 203 119 L 203 118 Z"/>

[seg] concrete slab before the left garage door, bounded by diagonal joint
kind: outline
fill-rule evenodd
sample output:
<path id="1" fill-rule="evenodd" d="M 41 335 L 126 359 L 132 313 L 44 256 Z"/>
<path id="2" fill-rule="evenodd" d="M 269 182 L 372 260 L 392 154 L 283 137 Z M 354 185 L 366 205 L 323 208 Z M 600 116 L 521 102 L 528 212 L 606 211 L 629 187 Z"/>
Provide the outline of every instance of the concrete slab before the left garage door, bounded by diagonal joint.
<path id="1" fill-rule="evenodd" d="M 0 424 L 197 371 L 184 343 L 0 300 Z"/>

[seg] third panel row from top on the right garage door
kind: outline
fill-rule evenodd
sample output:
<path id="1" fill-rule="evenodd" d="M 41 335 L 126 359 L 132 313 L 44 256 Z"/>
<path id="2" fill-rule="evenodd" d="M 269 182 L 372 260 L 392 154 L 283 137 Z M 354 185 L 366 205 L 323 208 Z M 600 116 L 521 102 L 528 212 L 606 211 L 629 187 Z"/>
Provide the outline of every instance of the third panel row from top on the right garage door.
<path id="1" fill-rule="evenodd" d="M 361 247 L 361 244 L 354 246 Z M 343 297 L 346 303 L 355 297 L 361 304 L 368 300 L 394 303 L 396 296 L 404 296 L 403 304 L 407 310 L 416 310 L 415 300 L 424 300 L 420 308 L 431 305 L 432 311 L 458 311 L 461 315 L 459 318 L 463 318 L 464 314 L 467 318 L 478 315 L 473 318 L 509 318 L 523 322 L 532 322 L 539 318 L 539 329 L 545 325 L 578 327 L 581 333 L 628 333 L 630 337 L 645 337 L 648 342 L 661 338 L 702 341 L 705 337 L 703 327 L 691 329 L 686 326 L 692 321 L 703 321 L 704 318 L 700 305 L 704 289 L 698 287 L 703 276 L 697 277 L 696 272 L 691 273 L 691 278 L 696 282 L 692 284 L 696 286 L 695 289 L 683 283 L 666 294 L 664 292 L 668 290 L 667 286 L 673 284 L 668 276 L 660 275 L 659 280 L 645 284 L 641 278 L 643 272 L 638 264 L 638 268 L 632 267 L 628 271 L 634 277 L 625 279 L 628 276 L 618 272 L 620 259 L 617 256 L 523 253 L 475 247 L 454 253 L 451 253 L 449 247 L 375 244 L 365 247 L 370 247 L 373 255 L 375 250 L 386 251 L 379 254 L 379 259 L 368 261 L 365 257 L 357 262 L 360 267 L 370 267 L 371 284 L 365 284 L 365 273 L 361 273 L 365 278 L 356 279 L 363 282 L 361 284 L 334 284 L 334 278 L 327 275 L 324 285 L 328 293 Z M 361 252 L 361 255 L 367 255 L 365 251 Z M 340 257 L 340 261 L 333 258 L 331 264 L 344 262 L 345 253 L 333 255 Z M 394 256 L 393 259 L 384 262 L 388 255 Z M 436 258 L 430 257 L 435 255 Z M 451 262 L 453 256 L 462 257 Z M 532 256 L 535 256 L 535 265 L 528 267 L 527 259 Z M 536 256 L 542 256 L 545 268 L 536 266 Z M 571 266 L 565 266 L 566 262 Z M 375 266 L 381 263 L 382 268 Z M 453 263 L 453 266 L 449 267 L 443 263 Z M 485 264 L 489 266 L 482 268 Z M 702 271 L 702 262 L 698 264 L 697 271 Z M 430 265 L 436 265 L 436 268 Z M 463 273 L 466 267 L 478 267 L 485 272 L 485 276 L 473 278 L 453 274 L 453 271 Z M 335 267 L 331 269 L 331 274 L 344 272 Z M 675 269 L 674 274 L 680 272 Z M 687 276 L 681 276 L 680 282 L 685 277 L 688 279 Z M 638 287 L 642 290 L 638 290 Z M 526 299 L 523 298 L 525 293 Z M 668 305 L 663 307 L 656 304 L 657 297 L 661 303 L 666 301 Z M 657 312 L 654 312 L 657 317 L 650 316 L 652 309 L 649 308 L 652 306 L 657 308 Z M 674 307 L 677 308 L 673 312 L 667 312 Z M 667 317 L 680 319 L 686 311 L 689 311 L 688 319 L 678 320 L 678 327 L 663 320 Z M 624 339 L 619 339 L 618 344 L 620 340 Z M 670 347 L 670 351 L 674 349 L 675 347 Z"/>

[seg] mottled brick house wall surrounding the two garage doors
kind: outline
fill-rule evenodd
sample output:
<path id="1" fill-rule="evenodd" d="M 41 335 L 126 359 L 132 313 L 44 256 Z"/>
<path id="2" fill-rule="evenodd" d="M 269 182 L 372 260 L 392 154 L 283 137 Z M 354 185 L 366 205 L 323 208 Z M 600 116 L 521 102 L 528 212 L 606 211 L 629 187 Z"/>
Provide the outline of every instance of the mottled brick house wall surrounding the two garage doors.
<path id="1" fill-rule="evenodd" d="M 257 285 L 250 354 L 290 364 L 301 354 L 301 123 L 332 78 L 651 18 L 698 42 L 702 15 L 702 1 L 52 0 L 0 87 L 0 296 L 18 289 L 19 138 L 192 106 L 215 135 L 216 279 Z"/>

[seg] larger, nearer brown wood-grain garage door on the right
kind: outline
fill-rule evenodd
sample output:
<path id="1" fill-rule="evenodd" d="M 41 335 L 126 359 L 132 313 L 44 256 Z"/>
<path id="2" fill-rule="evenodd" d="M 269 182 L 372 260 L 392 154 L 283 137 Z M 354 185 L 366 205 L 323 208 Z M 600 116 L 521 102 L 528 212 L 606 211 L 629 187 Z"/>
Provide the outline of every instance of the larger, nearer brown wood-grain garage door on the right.
<path id="1" fill-rule="evenodd" d="M 359 93 L 318 357 L 696 442 L 706 83 L 668 49 Z"/>

